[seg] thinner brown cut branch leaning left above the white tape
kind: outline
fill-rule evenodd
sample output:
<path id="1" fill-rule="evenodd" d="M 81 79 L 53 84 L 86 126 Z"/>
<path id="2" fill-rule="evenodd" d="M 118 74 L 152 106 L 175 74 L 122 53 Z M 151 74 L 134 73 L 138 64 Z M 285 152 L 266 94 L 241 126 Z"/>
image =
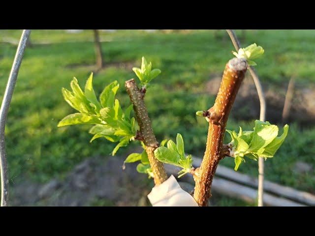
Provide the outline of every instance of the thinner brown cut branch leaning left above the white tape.
<path id="1" fill-rule="evenodd" d="M 156 185 L 161 184 L 167 179 L 167 175 L 163 163 L 159 162 L 154 155 L 154 150 L 158 148 L 158 141 L 153 133 L 148 111 L 143 101 L 144 93 L 139 90 L 134 79 L 126 81 L 125 86 L 140 128 L 137 136 L 143 139 L 146 146 L 146 152 L 154 174 L 154 182 Z"/>

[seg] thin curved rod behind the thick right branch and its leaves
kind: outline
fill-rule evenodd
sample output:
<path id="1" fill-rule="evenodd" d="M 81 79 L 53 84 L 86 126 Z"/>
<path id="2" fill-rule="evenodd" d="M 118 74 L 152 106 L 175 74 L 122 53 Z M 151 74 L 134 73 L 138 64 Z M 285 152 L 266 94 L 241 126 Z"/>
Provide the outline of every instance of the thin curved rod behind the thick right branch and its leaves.
<path id="1" fill-rule="evenodd" d="M 235 47 L 235 49 L 238 51 L 241 47 L 240 42 L 237 39 L 236 34 L 232 29 L 226 29 L 226 32 L 230 36 L 232 43 Z M 256 73 L 256 71 L 252 68 L 252 66 L 249 66 L 249 71 L 252 75 L 252 80 L 254 81 L 257 93 L 258 93 L 258 98 L 259 98 L 259 103 L 260 103 L 260 115 L 259 119 L 261 121 L 265 121 L 266 118 L 266 101 L 265 101 L 265 95 L 264 91 L 262 89 L 262 86 L 259 81 L 259 77 Z M 264 182 L 264 159 L 259 157 L 258 161 L 258 207 L 263 206 L 263 182 Z"/>

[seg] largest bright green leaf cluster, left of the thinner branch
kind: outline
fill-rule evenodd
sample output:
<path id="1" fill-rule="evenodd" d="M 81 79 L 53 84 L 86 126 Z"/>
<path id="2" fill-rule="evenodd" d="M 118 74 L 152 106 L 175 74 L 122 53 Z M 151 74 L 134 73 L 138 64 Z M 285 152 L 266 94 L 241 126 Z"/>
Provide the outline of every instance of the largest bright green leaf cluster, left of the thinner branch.
<path id="1" fill-rule="evenodd" d="M 79 113 L 63 118 L 58 127 L 74 124 L 95 124 L 90 133 L 93 142 L 97 138 L 105 138 L 111 142 L 119 142 L 113 149 L 117 150 L 128 145 L 135 137 L 135 118 L 130 118 L 132 105 L 122 110 L 119 100 L 115 99 L 119 84 L 117 81 L 106 86 L 99 96 L 99 101 L 93 89 L 93 73 L 86 82 L 84 92 L 78 85 L 76 78 L 70 83 L 72 91 L 62 89 L 64 100 Z"/>

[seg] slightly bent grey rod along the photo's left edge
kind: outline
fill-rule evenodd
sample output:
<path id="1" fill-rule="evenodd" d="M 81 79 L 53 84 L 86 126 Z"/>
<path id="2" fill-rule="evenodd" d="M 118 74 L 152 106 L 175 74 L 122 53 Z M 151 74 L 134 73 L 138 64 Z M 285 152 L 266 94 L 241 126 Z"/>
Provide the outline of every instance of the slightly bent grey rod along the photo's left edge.
<path id="1" fill-rule="evenodd" d="M 24 29 L 21 35 L 19 46 L 16 50 L 15 58 L 12 64 L 10 76 L 6 89 L 3 95 L 3 100 L 0 108 L 0 172 L 1 172 L 1 207 L 7 207 L 9 205 L 9 178 L 8 167 L 6 160 L 6 151 L 4 143 L 4 129 L 5 122 L 10 107 L 11 98 L 13 95 L 15 83 L 18 77 L 20 65 L 23 59 L 24 51 L 27 46 L 28 38 L 30 36 L 31 29 Z"/>

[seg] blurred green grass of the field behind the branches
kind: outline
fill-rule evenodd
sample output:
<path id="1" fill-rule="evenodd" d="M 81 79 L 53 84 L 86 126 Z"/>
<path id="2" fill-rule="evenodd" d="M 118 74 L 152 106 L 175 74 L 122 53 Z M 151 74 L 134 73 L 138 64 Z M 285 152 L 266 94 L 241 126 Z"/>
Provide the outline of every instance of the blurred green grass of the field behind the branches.
<path id="1" fill-rule="evenodd" d="M 21 30 L 0 30 L 0 42 L 18 40 Z M 101 32 L 106 68 L 95 74 L 97 94 L 118 80 L 118 98 L 123 108 L 129 104 L 124 82 L 135 77 L 132 66 L 141 57 L 162 70 L 146 95 L 146 104 L 158 140 L 181 133 L 187 152 L 202 156 L 207 123 L 196 118 L 195 111 L 209 108 L 214 97 L 205 93 L 205 83 L 214 73 L 222 73 L 234 49 L 223 30 L 215 37 L 213 30 L 190 33 L 148 33 L 139 30 Z M 292 75 L 297 82 L 315 82 L 315 30 L 247 30 L 243 45 L 256 42 L 265 49 L 257 60 L 257 72 L 264 83 L 287 84 Z M 23 180 L 26 175 L 45 182 L 64 174 L 83 159 L 108 155 L 115 144 L 95 140 L 89 144 L 89 125 L 57 128 L 65 115 L 73 113 L 63 100 L 61 88 L 69 88 L 75 76 L 83 87 L 95 62 L 93 32 L 66 33 L 64 30 L 33 30 L 33 47 L 27 48 L 8 114 L 5 130 L 10 179 Z M 16 46 L 0 43 L 0 99 L 14 59 Z M 119 67 L 118 62 L 127 66 Z M 228 128 L 252 129 L 253 121 L 229 119 Z M 301 129 L 291 124 L 287 140 L 275 158 L 266 162 L 266 179 L 315 192 L 315 173 L 292 171 L 296 161 L 315 166 L 315 128 Z M 132 147 L 132 146 L 131 146 Z M 126 148 L 119 150 L 123 154 Z M 122 160 L 123 161 L 123 160 Z M 225 166 L 234 162 L 225 158 Z M 257 163 L 247 161 L 240 172 L 257 176 Z M 224 200 L 229 203 L 229 199 Z M 230 204 L 230 203 L 229 203 Z M 229 205 L 227 204 L 227 205 Z"/>

